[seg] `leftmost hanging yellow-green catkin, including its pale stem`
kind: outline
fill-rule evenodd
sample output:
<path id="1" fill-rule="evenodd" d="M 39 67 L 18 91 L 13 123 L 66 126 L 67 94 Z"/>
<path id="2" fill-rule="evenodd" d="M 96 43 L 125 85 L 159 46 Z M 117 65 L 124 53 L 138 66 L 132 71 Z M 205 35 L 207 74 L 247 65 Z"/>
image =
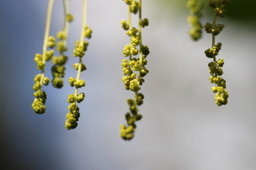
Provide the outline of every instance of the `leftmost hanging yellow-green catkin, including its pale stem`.
<path id="1" fill-rule="evenodd" d="M 54 50 L 47 50 L 47 46 L 49 48 L 54 48 L 54 46 L 56 45 L 55 38 L 49 36 L 53 3 L 54 0 L 48 1 L 43 53 L 36 53 L 34 58 L 36 62 L 36 67 L 38 70 L 41 71 L 41 73 L 37 74 L 34 78 L 35 84 L 33 85 L 33 90 L 35 90 L 35 93 L 33 95 L 35 96 L 35 99 L 31 107 L 33 108 L 35 113 L 38 114 L 45 113 L 46 93 L 42 91 L 42 87 L 43 85 L 48 85 L 50 81 L 49 78 L 45 76 L 45 61 L 49 61 L 54 54 Z"/>

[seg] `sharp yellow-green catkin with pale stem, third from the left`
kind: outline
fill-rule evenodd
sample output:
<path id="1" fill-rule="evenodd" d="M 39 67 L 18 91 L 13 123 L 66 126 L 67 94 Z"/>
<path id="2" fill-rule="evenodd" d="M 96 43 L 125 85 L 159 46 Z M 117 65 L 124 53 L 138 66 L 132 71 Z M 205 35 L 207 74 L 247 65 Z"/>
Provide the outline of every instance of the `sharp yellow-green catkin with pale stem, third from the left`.
<path id="1" fill-rule="evenodd" d="M 83 0 L 83 18 L 82 18 L 82 30 L 81 30 L 81 38 L 80 41 L 76 41 L 75 43 L 75 49 L 74 49 L 74 57 L 79 57 L 79 62 L 75 63 L 74 69 L 77 70 L 77 76 L 76 78 L 70 77 L 68 79 L 68 82 L 71 87 L 76 87 L 75 93 L 68 95 L 68 103 L 70 105 L 68 106 L 68 113 L 67 113 L 67 120 L 65 122 L 66 129 L 75 129 L 77 127 L 77 121 L 80 117 L 79 113 L 79 107 L 77 106 L 77 103 L 81 103 L 81 101 L 84 100 L 85 94 L 81 92 L 78 94 L 78 89 L 85 86 L 85 81 L 80 79 L 81 71 L 86 70 L 86 66 L 83 64 L 82 59 L 84 56 L 84 53 L 87 50 L 88 42 L 84 41 L 85 38 L 91 38 L 92 37 L 92 29 L 86 25 L 86 6 L 87 1 Z"/>

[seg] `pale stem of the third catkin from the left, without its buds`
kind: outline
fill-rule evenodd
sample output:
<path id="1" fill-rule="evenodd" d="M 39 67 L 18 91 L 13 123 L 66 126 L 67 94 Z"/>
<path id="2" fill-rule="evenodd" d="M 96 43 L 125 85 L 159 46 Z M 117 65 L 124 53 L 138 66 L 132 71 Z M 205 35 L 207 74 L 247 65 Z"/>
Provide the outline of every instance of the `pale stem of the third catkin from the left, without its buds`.
<path id="1" fill-rule="evenodd" d="M 84 45 L 84 27 L 86 25 L 87 0 L 83 0 L 82 8 L 83 8 L 83 16 L 82 16 L 82 26 L 81 26 L 81 37 L 80 37 L 80 42 L 79 42 L 80 46 Z M 78 81 L 80 79 L 80 76 L 81 76 L 82 59 L 83 59 L 83 57 L 79 57 L 79 64 L 78 64 L 78 69 L 77 69 L 76 81 Z M 76 87 L 76 90 L 75 90 L 75 96 L 76 97 L 77 97 L 77 94 L 78 94 L 78 87 Z"/>

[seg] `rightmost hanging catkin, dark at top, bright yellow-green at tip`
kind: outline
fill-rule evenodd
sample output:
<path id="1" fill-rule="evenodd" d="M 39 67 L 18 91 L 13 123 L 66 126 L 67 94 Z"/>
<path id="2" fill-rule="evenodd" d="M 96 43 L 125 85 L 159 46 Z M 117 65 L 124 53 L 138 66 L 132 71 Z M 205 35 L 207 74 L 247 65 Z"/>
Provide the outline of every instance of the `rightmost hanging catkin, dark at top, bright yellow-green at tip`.
<path id="1" fill-rule="evenodd" d="M 227 104 L 228 92 L 226 90 L 226 80 L 221 78 L 223 74 L 223 58 L 216 59 L 216 56 L 221 50 L 221 43 L 215 43 L 215 36 L 220 34 L 222 29 L 224 28 L 223 24 L 216 24 L 216 19 L 218 17 L 225 17 L 225 6 L 228 4 L 228 0 L 210 0 L 209 6 L 214 8 L 214 17 L 211 23 L 206 23 L 204 25 L 205 31 L 209 34 L 212 34 L 212 46 L 211 48 L 205 50 L 206 57 L 212 58 L 212 62 L 209 62 L 209 73 L 211 77 L 209 78 L 211 83 L 216 84 L 216 86 L 212 87 L 212 92 L 216 93 L 215 95 L 215 103 L 218 106 L 223 104 Z"/>

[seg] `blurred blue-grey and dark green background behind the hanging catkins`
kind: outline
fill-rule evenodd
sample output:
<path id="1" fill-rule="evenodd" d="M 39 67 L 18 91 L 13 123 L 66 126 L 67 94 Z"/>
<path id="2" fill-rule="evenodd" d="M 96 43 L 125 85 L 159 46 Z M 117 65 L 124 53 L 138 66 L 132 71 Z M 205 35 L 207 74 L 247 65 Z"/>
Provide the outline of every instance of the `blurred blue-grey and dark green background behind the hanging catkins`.
<path id="1" fill-rule="evenodd" d="M 212 9 L 204 1 L 203 22 L 211 22 Z M 225 29 L 216 37 L 223 43 L 223 78 L 230 97 L 227 106 L 214 104 L 204 50 L 211 35 L 198 42 L 188 36 L 186 1 L 143 1 L 143 42 L 150 48 L 148 70 L 141 92 L 143 119 L 132 141 L 119 136 L 125 123 L 126 99 L 121 60 L 129 38 L 120 27 L 127 5 L 114 0 L 88 0 L 88 25 L 93 29 L 84 57 L 86 99 L 75 130 L 64 127 L 67 95 L 74 93 L 67 78 L 76 76 L 72 64 L 74 41 L 79 39 L 81 1 L 70 1 L 75 16 L 70 25 L 65 86 L 49 85 L 47 111 L 31 108 L 33 78 L 38 74 L 33 57 L 42 53 L 47 1 L 8 0 L 0 6 L 0 169 L 88 170 L 255 170 L 255 1 L 232 0 L 227 17 L 218 19 Z M 137 22 L 137 17 L 132 17 Z M 60 0 L 54 3 L 51 35 L 63 25 Z M 47 63 L 51 77 L 51 63 Z"/>

